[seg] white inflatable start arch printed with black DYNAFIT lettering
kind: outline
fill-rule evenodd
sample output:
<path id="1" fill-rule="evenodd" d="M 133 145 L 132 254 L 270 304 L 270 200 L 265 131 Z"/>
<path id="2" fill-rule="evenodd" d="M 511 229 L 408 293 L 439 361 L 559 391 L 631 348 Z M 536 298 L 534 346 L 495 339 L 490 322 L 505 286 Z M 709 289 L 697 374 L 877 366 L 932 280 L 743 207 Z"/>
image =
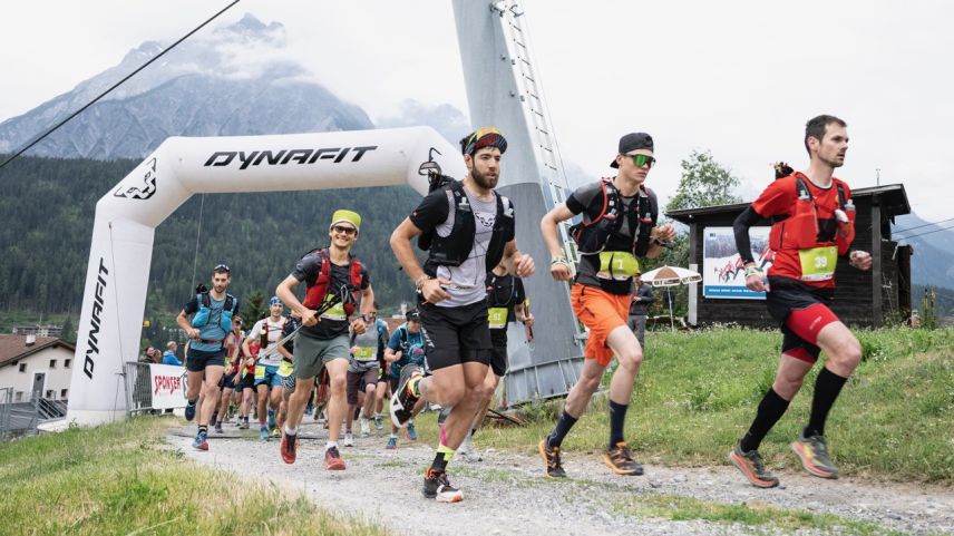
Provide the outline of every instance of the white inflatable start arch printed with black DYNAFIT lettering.
<path id="1" fill-rule="evenodd" d="M 164 142 L 96 204 L 67 420 L 125 418 L 123 363 L 139 351 L 155 230 L 192 195 L 398 184 L 426 194 L 425 162 L 466 174 L 429 127 Z"/>

